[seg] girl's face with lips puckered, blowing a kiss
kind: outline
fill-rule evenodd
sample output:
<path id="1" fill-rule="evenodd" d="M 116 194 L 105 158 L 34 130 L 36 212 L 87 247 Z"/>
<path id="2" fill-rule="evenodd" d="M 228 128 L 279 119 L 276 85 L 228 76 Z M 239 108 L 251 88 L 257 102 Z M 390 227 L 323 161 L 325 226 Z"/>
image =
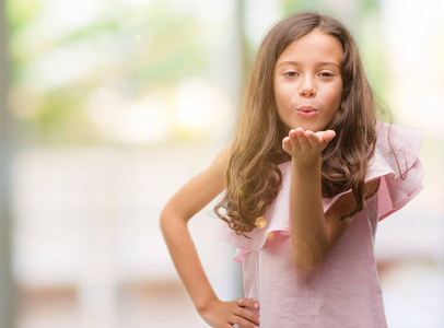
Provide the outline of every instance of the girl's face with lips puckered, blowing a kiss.
<path id="1" fill-rule="evenodd" d="M 274 68 L 274 97 L 287 133 L 301 127 L 322 131 L 339 110 L 342 95 L 342 46 L 313 31 L 291 43 Z"/>

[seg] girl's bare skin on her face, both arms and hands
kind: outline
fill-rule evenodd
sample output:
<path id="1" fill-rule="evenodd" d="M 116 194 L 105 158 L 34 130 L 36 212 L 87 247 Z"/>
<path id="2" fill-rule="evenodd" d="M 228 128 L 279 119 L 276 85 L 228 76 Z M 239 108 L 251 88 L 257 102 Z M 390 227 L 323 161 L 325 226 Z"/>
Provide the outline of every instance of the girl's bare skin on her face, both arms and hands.
<path id="1" fill-rule="evenodd" d="M 320 38 L 316 40 L 312 37 Z M 301 48 L 304 44 L 312 48 Z M 322 48 L 322 45 L 326 48 Z M 326 57 L 317 56 L 318 52 L 330 56 L 336 46 L 335 39 L 323 38 L 318 32 L 313 32 L 283 51 L 274 72 L 278 114 L 289 133 L 282 140 L 282 148 L 292 161 L 292 255 L 294 265 L 300 270 L 309 270 L 326 257 L 350 223 L 339 219 L 355 207 L 350 194 L 342 196 L 325 215 L 322 207 L 320 152 L 335 138 L 334 131 L 324 129 L 339 108 L 342 81 L 338 80 L 337 72 L 335 78 L 325 73 L 335 71 L 335 65 L 330 62 L 325 67 L 314 58 L 325 61 Z M 301 52 L 301 49 L 304 51 Z M 289 57 L 294 62 L 280 65 L 288 59 L 287 55 L 296 55 L 294 58 Z M 341 54 L 332 55 L 337 56 L 327 56 L 328 59 L 336 60 L 336 65 L 340 66 L 338 60 Z M 293 69 L 295 73 L 283 72 L 284 67 L 287 70 Z M 300 104 L 317 106 L 319 113 L 313 118 L 301 118 L 294 110 Z M 203 271 L 187 226 L 196 213 L 226 188 L 225 172 L 230 149 L 231 144 L 222 150 L 207 169 L 185 184 L 170 199 L 161 214 L 161 229 L 176 270 L 203 320 L 214 328 L 230 328 L 235 324 L 254 328 L 259 326 L 259 316 L 253 309 L 259 309 L 260 305 L 249 298 L 230 302 L 218 298 Z M 367 184 L 365 192 L 371 195 L 376 188 L 377 181 Z"/>

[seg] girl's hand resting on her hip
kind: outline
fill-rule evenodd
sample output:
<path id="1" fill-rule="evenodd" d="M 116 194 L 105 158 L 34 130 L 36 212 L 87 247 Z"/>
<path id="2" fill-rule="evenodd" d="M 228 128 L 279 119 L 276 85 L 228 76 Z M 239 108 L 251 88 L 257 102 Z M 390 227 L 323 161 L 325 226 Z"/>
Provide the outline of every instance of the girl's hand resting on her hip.
<path id="1" fill-rule="evenodd" d="M 259 315 L 250 308 L 258 311 L 259 304 L 250 298 L 231 302 L 214 300 L 199 314 L 213 328 L 232 328 L 235 324 L 242 328 L 255 328 L 259 326 Z"/>

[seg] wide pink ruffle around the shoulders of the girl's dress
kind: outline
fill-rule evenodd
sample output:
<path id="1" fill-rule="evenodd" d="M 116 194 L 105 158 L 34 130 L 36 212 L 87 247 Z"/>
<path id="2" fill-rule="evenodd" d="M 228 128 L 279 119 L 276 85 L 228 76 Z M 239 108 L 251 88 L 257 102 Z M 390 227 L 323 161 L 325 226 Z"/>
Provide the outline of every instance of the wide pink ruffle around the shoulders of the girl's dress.
<path id="1" fill-rule="evenodd" d="M 369 163 L 365 181 L 381 178 L 377 191 L 381 221 L 401 209 L 422 190 L 422 166 L 418 160 L 422 131 L 382 121 L 377 121 L 376 131 L 375 153 Z M 291 162 L 280 164 L 279 168 L 282 172 L 282 189 L 264 214 L 267 220 L 264 227 L 246 233 L 249 237 L 246 238 L 221 221 L 213 233 L 215 238 L 237 247 L 234 256 L 237 262 L 243 262 L 246 254 L 262 248 L 267 238 L 273 234 L 290 235 Z M 324 213 L 343 194 L 350 191 L 329 199 L 323 198 Z"/>

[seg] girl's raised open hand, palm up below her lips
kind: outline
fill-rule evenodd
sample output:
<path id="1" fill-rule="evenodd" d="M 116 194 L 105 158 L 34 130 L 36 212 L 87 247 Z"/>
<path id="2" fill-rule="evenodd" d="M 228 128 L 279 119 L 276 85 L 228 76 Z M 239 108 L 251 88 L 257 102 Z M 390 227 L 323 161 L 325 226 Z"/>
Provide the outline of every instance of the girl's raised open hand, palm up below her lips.
<path id="1" fill-rule="evenodd" d="M 334 130 L 313 132 L 302 128 L 292 129 L 289 137 L 283 138 L 282 148 L 293 161 L 309 165 L 316 161 L 320 152 L 335 138 Z"/>

